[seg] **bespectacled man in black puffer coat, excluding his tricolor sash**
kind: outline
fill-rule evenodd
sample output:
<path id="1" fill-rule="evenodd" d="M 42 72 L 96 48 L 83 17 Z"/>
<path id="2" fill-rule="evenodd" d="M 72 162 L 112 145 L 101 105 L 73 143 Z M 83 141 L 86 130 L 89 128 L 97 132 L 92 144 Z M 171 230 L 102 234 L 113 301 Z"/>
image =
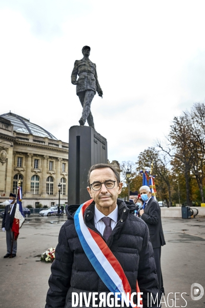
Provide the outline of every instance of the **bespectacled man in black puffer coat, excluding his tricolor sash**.
<path id="1" fill-rule="evenodd" d="M 140 292 L 143 293 L 143 306 L 150 307 L 151 296 L 149 295 L 148 301 L 148 293 L 152 293 L 153 298 L 159 298 L 159 289 L 148 227 L 144 221 L 131 214 L 135 208 L 134 204 L 117 198 L 122 183 L 112 166 L 92 166 L 88 181 L 87 189 L 93 202 L 91 201 L 85 210 L 84 223 L 106 242 L 124 270 L 132 293 L 136 292 L 138 281 Z M 71 308 L 73 292 L 78 295 L 85 292 L 87 298 L 90 292 L 96 292 L 96 304 L 99 304 L 100 293 L 110 293 L 78 238 L 74 224 L 74 215 L 78 207 L 79 205 L 69 205 L 66 209 L 68 220 L 60 229 L 55 260 L 51 265 L 52 274 L 49 278 L 46 308 Z M 109 220 L 109 226 L 105 224 L 105 219 L 106 222 Z M 133 301 L 136 304 L 136 296 Z M 84 298 L 83 307 L 86 307 Z M 157 301 L 152 302 L 152 307 L 158 307 Z"/>

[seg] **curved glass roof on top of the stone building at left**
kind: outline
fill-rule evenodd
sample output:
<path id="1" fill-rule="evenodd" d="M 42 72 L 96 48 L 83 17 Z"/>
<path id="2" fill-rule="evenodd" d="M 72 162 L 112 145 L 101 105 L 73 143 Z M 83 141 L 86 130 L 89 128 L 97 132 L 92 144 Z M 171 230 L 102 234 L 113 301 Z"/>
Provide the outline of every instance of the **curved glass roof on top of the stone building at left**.
<path id="1" fill-rule="evenodd" d="M 30 120 L 25 119 L 23 117 L 20 117 L 20 115 L 9 112 L 9 113 L 5 113 L 5 114 L 0 115 L 0 117 L 11 121 L 11 123 L 13 124 L 13 130 L 15 130 L 17 132 L 31 133 L 35 136 L 48 137 L 50 139 L 57 140 L 46 129 L 44 129 L 44 128 L 36 125 L 36 124 L 31 123 Z"/>

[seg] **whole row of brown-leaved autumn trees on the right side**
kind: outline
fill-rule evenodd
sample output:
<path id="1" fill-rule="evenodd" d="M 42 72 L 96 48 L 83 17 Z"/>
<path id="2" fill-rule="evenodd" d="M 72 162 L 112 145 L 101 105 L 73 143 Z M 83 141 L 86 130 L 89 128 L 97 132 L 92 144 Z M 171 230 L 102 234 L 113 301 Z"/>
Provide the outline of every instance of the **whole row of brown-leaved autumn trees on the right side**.
<path id="1" fill-rule="evenodd" d="M 179 199 L 187 205 L 204 203 L 204 103 L 195 103 L 190 112 L 184 111 L 179 117 L 174 117 L 166 141 L 156 141 L 155 147 L 139 153 L 137 162 L 129 162 L 132 165 L 131 191 L 139 190 L 142 183 L 139 171 L 144 166 L 151 167 L 152 161 L 158 200 L 165 200 L 168 206 L 172 202 L 179 203 Z M 125 169 L 125 174 L 126 162 L 120 167 Z M 127 187 L 122 190 L 121 197 L 126 192 Z"/>

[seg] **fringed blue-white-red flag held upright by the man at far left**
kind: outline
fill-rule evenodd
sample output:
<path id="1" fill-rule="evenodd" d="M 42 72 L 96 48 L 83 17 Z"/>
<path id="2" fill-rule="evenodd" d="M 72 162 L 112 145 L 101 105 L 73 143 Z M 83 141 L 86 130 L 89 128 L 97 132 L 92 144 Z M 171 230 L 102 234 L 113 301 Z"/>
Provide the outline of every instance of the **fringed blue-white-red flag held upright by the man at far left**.
<path id="1" fill-rule="evenodd" d="M 23 209 L 22 209 L 22 187 L 18 186 L 16 211 L 13 220 L 11 231 L 14 233 L 14 240 L 16 241 L 19 235 L 19 229 L 25 221 Z"/>

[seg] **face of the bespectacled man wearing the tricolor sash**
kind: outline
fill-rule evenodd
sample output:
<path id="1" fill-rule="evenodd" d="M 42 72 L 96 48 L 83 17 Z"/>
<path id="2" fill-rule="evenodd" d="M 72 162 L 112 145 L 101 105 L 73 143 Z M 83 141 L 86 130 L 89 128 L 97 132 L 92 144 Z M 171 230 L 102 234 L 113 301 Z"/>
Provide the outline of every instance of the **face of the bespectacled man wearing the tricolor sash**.
<path id="1" fill-rule="evenodd" d="M 115 186 L 111 189 L 106 188 L 105 184 L 101 184 L 99 190 L 93 190 L 88 186 L 90 197 L 95 201 L 97 208 L 112 208 L 116 207 L 118 195 L 121 192 L 122 183 L 117 183 L 114 172 L 110 168 L 95 169 L 90 174 L 90 184 L 95 182 L 104 183 L 108 180 L 115 181 Z M 111 211 L 112 211 L 111 210 Z"/>

